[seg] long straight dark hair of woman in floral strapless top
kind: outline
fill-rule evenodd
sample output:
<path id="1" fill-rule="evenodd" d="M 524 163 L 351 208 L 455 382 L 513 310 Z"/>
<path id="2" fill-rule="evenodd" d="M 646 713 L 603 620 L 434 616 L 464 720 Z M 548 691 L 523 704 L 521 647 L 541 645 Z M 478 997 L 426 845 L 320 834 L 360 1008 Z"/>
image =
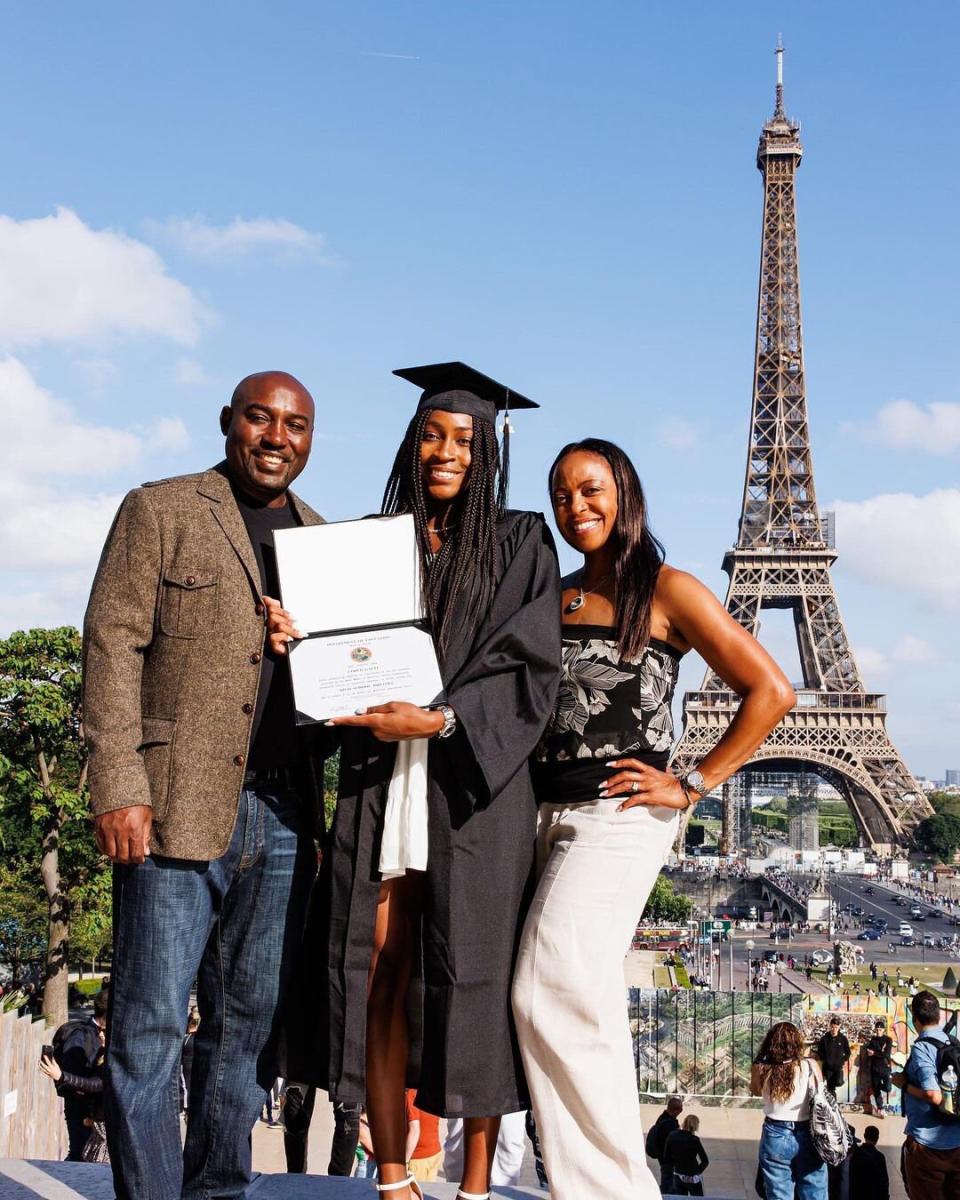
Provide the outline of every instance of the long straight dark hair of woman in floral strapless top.
<path id="1" fill-rule="evenodd" d="M 617 485 L 617 520 L 611 534 L 617 546 L 617 649 L 624 659 L 636 659 L 650 640 L 653 596 L 664 564 L 664 547 L 647 524 L 647 500 L 636 468 L 612 442 L 583 438 L 565 445 L 547 475 L 551 493 L 557 467 L 578 450 L 605 458 Z"/>

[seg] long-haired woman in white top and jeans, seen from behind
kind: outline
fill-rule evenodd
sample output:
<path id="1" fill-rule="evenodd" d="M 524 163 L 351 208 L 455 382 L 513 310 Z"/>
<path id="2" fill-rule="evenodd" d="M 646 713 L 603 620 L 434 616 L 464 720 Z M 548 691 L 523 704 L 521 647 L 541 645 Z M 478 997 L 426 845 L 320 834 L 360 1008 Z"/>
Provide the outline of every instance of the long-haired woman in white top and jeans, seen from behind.
<path id="1" fill-rule="evenodd" d="M 750 1092 L 763 1099 L 760 1174 L 767 1200 L 827 1200 L 827 1168 L 810 1136 L 810 1094 L 820 1079 L 797 1026 L 770 1026 L 750 1072 Z"/>

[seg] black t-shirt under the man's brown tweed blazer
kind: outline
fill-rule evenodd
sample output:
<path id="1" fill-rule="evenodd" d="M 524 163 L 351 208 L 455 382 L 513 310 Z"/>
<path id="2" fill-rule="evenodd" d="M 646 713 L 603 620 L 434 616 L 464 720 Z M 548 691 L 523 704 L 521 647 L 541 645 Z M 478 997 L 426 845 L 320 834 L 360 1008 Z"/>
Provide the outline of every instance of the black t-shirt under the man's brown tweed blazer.
<path id="1" fill-rule="evenodd" d="M 280 581 L 274 551 L 275 529 L 295 529 L 301 522 L 289 502 L 282 509 L 271 509 L 239 488 L 233 490 L 240 516 L 247 527 L 250 544 L 260 570 L 260 594 L 278 598 Z M 293 708 L 290 665 L 277 658 L 268 643 L 260 664 L 260 686 L 250 734 L 247 767 L 294 767 L 300 761 L 300 739 Z"/>

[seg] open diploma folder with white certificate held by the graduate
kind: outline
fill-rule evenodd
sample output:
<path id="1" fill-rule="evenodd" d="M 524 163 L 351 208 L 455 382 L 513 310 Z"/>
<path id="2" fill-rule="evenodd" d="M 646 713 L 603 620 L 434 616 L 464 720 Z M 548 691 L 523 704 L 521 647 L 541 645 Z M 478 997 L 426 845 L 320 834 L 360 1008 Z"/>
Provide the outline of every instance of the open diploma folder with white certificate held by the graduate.
<path id="1" fill-rule="evenodd" d="M 412 515 L 277 529 L 274 546 L 281 601 L 304 634 L 288 644 L 298 725 L 443 698 Z"/>

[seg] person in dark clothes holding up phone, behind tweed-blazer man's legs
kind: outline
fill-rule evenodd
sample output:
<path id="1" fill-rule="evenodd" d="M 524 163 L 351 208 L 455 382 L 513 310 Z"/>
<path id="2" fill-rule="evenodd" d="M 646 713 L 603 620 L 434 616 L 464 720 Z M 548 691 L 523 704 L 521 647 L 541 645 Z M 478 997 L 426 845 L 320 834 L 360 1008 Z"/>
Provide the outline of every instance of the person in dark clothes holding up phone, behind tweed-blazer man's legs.
<path id="1" fill-rule="evenodd" d="M 54 1081 L 64 1099 L 67 1126 L 67 1162 L 80 1163 L 90 1138 L 91 1118 L 100 1116 L 103 1094 L 103 1042 L 107 1030 L 108 994 L 94 998 L 94 1015 L 65 1021 L 44 1046 L 40 1069 Z M 101 1116 L 102 1120 L 102 1116 Z"/>

